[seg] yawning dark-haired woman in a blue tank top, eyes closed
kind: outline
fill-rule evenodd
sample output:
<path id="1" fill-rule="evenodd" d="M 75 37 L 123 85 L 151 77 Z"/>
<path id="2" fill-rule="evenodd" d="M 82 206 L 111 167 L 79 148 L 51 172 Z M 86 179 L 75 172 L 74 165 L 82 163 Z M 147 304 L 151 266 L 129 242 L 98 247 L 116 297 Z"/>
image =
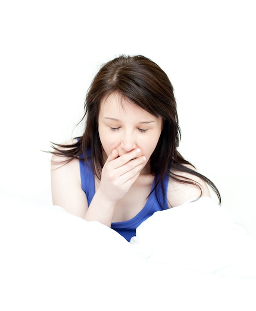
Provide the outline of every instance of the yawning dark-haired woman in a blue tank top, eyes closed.
<path id="1" fill-rule="evenodd" d="M 53 204 L 129 241 L 154 212 L 210 196 L 207 184 L 220 200 L 178 153 L 173 87 L 148 58 L 105 64 L 88 89 L 83 119 L 82 137 L 53 145 Z"/>

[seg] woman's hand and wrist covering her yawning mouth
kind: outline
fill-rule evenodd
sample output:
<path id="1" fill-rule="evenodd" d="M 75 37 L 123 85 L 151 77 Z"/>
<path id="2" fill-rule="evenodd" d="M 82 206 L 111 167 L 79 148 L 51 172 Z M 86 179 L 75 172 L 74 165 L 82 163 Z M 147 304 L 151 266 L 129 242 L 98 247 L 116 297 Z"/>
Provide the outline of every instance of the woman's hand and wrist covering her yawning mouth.
<path id="1" fill-rule="evenodd" d="M 119 157 L 114 149 L 102 168 L 98 191 L 109 201 L 120 200 L 129 191 L 145 164 L 146 157 L 141 155 L 140 149 Z"/>

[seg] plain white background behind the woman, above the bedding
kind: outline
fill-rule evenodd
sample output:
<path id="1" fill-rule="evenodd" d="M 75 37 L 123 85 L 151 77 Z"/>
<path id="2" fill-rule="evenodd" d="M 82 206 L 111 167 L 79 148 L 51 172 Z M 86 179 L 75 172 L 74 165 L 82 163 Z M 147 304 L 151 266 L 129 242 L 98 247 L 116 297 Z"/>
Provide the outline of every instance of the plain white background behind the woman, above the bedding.
<path id="1" fill-rule="evenodd" d="M 142 54 L 168 74 L 179 151 L 256 236 L 254 0 L 0 1 L 0 191 L 51 203 L 49 141 L 79 135 L 100 65 Z"/>

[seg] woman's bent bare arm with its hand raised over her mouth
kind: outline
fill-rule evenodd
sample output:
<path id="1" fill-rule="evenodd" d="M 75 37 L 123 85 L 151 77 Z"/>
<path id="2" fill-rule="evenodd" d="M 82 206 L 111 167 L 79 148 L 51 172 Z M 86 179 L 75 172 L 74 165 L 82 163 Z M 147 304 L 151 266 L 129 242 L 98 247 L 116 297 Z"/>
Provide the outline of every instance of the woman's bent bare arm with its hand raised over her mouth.
<path id="1" fill-rule="evenodd" d="M 114 150 L 105 162 L 101 180 L 88 208 L 81 186 L 79 159 L 73 159 L 66 164 L 63 160 L 66 160 L 63 156 L 52 156 L 53 204 L 85 220 L 98 221 L 109 227 L 116 202 L 127 193 L 145 165 L 144 157 L 136 150 L 120 157 Z"/>

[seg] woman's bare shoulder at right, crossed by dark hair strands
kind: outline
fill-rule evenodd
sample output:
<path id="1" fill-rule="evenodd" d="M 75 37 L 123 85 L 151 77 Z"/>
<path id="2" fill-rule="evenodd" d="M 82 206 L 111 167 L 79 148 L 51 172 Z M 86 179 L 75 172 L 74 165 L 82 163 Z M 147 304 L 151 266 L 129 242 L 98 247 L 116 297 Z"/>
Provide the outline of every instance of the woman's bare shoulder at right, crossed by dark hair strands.
<path id="1" fill-rule="evenodd" d="M 196 171 L 192 165 L 185 164 L 184 166 Z M 179 182 L 172 178 L 169 179 L 168 201 L 170 207 L 182 205 L 183 203 L 192 201 L 201 195 L 210 197 L 208 186 L 200 177 L 189 172 L 180 172 L 177 170 L 171 170 L 171 172 L 177 175 L 177 178 L 181 181 L 188 181 L 190 183 Z"/>

